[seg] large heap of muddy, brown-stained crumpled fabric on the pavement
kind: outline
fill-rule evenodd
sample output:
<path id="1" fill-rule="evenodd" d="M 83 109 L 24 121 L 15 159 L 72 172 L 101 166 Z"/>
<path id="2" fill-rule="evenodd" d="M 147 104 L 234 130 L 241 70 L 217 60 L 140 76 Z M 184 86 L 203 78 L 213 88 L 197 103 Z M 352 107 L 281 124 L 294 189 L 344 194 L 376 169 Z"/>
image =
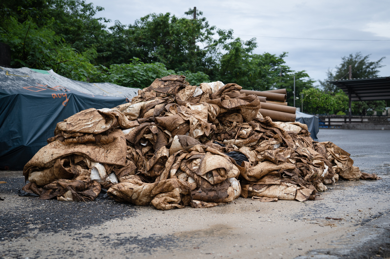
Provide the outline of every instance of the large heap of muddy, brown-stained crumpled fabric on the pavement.
<path id="1" fill-rule="evenodd" d="M 257 96 L 241 88 L 171 75 L 132 103 L 81 111 L 24 166 L 23 190 L 88 201 L 108 189 L 119 202 L 171 209 L 239 196 L 306 201 L 339 177 L 377 178 L 333 143 L 314 142 L 305 124 L 263 117 Z"/>

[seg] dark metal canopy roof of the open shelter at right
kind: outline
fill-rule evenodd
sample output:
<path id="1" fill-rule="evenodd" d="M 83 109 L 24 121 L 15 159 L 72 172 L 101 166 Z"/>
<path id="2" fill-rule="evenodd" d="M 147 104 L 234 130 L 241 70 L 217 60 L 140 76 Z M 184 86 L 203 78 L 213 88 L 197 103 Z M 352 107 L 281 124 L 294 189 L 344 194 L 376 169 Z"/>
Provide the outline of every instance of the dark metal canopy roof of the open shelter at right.
<path id="1" fill-rule="evenodd" d="M 358 78 L 328 81 L 351 93 L 351 101 L 378 101 L 390 99 L 390 77 Z"/>

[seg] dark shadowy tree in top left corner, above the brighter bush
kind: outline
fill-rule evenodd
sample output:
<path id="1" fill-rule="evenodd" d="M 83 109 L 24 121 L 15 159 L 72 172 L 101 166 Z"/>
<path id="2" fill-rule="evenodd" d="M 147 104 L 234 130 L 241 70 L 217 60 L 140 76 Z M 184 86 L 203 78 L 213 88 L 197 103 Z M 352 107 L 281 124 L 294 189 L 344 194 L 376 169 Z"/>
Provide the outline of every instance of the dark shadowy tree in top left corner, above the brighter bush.
<path id="1" fill-rule="evenodd" d="M 85 0 L 11 0 L 1 1 L 1 28 L 12 31 L 8 19 L 14 17 L 19 23 L 29 21 L 39 28 L 50 27 L 52 31 L 79 53 L 91 47 L 97 48 L 106 31 L 105 18 L 95 16 L 103 8 L 94 7 Z"/>

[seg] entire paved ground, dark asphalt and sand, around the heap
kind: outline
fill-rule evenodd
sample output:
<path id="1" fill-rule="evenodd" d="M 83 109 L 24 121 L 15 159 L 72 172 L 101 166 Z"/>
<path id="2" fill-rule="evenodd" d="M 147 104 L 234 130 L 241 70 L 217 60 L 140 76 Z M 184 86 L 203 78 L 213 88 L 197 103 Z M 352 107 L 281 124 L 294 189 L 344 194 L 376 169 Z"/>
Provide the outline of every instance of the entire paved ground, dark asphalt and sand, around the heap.
<path id="1" fill-rule="evenodd" d="M 390 132 L 321 129 L 318 138 L 383 179 L 340 181 L 305 203 L 159 211 L 19 197 L 21 172 L 0 171 L 0 258 L 390 258 Z"/>

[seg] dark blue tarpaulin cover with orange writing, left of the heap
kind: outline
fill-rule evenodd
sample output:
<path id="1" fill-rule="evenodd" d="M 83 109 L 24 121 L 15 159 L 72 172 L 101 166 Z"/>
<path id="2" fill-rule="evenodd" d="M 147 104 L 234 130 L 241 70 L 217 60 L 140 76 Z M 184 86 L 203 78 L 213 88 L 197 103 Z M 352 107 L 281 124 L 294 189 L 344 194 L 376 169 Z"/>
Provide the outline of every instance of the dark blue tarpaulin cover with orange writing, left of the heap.
<path id="1" fill-rule="evenodd" d="M 127 103 L 137 90 L 74 81 L 53 70 L 0 67 L 0 169 L 22 170 L 58 121 L 91 107 Z"/>

